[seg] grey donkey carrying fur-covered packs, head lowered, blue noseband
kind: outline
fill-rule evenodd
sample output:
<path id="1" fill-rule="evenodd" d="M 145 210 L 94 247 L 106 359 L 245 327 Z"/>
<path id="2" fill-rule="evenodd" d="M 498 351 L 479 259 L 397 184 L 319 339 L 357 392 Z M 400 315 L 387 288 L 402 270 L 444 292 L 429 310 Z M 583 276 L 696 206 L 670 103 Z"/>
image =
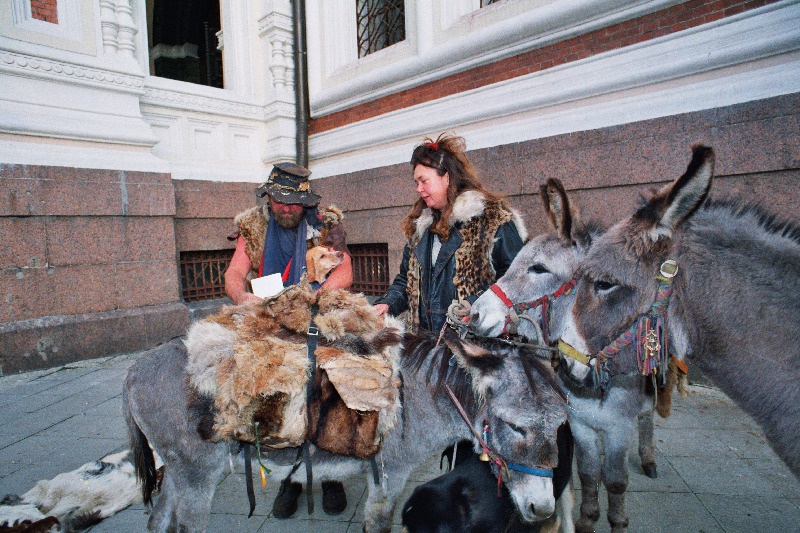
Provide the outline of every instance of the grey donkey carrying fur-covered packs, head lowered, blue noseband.
<path id="1" fill-rule="evenodd" d="M 481 346 L 465 344 L 452 333 L 444 341 L 437 344 L 437 337 L 430 335 L 404 337 L 402 415 L 378 456 L 380 484 L 368 476 L 366 532 L 391 529 L 398 497 L 414 468 L 446 446 L 473 438 L 445 384 L 481 428 L 478 431 L 488 425 L 488 444 L 498 458 L 509 467 L 535 469 L 531 474 L 503 468 L 520 516 L 535 522 L 554 514 L 552 481 L 545 476 L 558 462 L 556 433 L 567 418 L 558 378 L 526 348 L 489 340 Z M 185 346 L 173 341 L 140 357 L 125 380 L 123 411 L 146 502 L 155 487 L 151 446 L 166 466 L 148 523 L 152 531 L 204 531 L 214 491 L 229 468 L 228 457 L 240 457 L 238 444 L 215 444 L 198 434 L 212 402 L 192 401 L 189 406 L 186 362 Z M 297 451 L 271 450 L 267 455 L 273 465 L 284 465 L 273 471 L 283 477 Z M 359 471 L 364 464 L 319 450 L 313 452 L 313 463 L 318 477 L 325 476 L 326 469 L 338 469 L 339 476 Z M 303 476 L 304 469 L 296 474 Z M 561 511 L 569 516 L 571 506 Z"/>

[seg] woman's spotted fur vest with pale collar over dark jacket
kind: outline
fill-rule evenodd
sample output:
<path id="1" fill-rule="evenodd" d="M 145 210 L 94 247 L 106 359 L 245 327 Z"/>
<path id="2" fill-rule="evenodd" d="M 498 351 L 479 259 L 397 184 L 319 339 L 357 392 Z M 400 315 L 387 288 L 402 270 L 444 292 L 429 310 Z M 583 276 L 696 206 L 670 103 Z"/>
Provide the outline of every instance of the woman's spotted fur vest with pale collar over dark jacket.
<path id="1" fill-rule="evenodd" d="M 416 232 L 408 243 L 410 250 L 419 250 L 421 241 L 429 235 L 429 229 L 433 224 L 433 213 L 429 208 L 422 211 L 416 221 Z M 458 244 L 458 239 L 463 239 L 463 242 L 458 245 L 453 257 L 448 259 L 440 257 L 437 261 L 437 267 L 431 268 L 432 272 L 428 283 L 436 289 L 437 274 L 448 277 L 453 281 L 455 286 L 455 294 L 453 295 L 456 300 L 473 299 L 485 291 L 498 276 L 497 269 L 492 263 L 492 257 L 495 252 L 495 246 L 500 244 L 504 237 L 498 234 L 501 227 L 511 222 L 510 226 L 516 229 L 518 233 L 519 242 L 518 246 L 512 246 L 509 250 L 504 250 L 508 263 L 513 259 L 521 247 L 521 243 L 527 238 L 527 231 L 522 217 L 519 213 L 506 207 L 503 203 L 497 201 L 488 201 L 483 193 L 480 191 L 465 191 L 461 193 L 453 204 L 453 211 L 450 218 L 451 237 L 448 242 L 453 241 L 454 237 L 457 239 L 454 244 Z M 513 229 L 510 229 L 513 231 Z M 457 234 L 457 235 L 456 235 Z M 448 254 L 447 244 L 442 245 L 439 254 Z M 424 256 L 424 259 L 422 259 Z M 445 259 L 446 263 L 442 260 Z M 423 272 L 423 265 L 420 261 L 430 261 L 427 254 L 410 253 L 408 260 L 407 271 L 407 284 L 406 292 L 408 295 L 408 329 L 415 331 L 419 326 L 419 307 L 421 301 L 420 292 L 420 278 Z M 454 269 L 452 264 L 454 263 Z M 442 267 L 438 267 L 442 264 Z M 450 264 L 451 268 L 447 268 Z M 505 265 L 508 268 L 508 264 Z M 503 270 L 503 273 L 505 269 Z M 446 283 L 446 281 L 443 281 Z M 432 298 L 435 300 L 436 295 Z M 471 298 L 472 297 L 472 298 Z M 452 301 L 452 300 L 450 300 Z M 439 302 L 438 307 L 446 307 L 450 301 Z M 434 306 L 432 306 L 434 307 Z"/>

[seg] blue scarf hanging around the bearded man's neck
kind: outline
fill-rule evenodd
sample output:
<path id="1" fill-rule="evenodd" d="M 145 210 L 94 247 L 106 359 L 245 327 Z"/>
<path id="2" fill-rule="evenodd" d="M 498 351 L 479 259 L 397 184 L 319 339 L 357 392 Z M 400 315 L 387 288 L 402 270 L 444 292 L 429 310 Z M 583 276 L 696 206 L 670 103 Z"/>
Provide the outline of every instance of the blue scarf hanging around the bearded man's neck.
<path id="1" fill-rule="evenodd" d="M 306 240 L 308 239 L 309 225 L 314 228 L 321 225 L 316 207 L 306 209 L 305 218 L 300 220 L 297 228 L 281 227 L 273 218 L 272 213 L 269 214 L 267 236 L 264 240 L 262 276 L 281 274 L 284 287 L 295 285 L 300 281 L 300 276 L 306 269 L 306 252 L 308 251 Z M 287 266 L 289 266 L 289 272 L 288 275 L 284 275 Z"/>

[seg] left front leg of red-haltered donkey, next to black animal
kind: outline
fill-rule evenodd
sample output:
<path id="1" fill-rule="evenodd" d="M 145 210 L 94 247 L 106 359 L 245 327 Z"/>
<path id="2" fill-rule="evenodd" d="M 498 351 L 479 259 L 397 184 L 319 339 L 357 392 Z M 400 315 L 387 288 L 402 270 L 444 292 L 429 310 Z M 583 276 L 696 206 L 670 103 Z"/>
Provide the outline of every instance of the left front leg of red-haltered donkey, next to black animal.
<path id="1" fill-rule="evenodd" d="M 575 437 L 575 459 L 578 465 L 578 478 L 581 481 L 580 518 L 575 523 L 575 531 L 589 533 L 600 518 L 598 485 L 600 483 L 600 439 L 590 427 L 570 420 L 572 435 Z"/>

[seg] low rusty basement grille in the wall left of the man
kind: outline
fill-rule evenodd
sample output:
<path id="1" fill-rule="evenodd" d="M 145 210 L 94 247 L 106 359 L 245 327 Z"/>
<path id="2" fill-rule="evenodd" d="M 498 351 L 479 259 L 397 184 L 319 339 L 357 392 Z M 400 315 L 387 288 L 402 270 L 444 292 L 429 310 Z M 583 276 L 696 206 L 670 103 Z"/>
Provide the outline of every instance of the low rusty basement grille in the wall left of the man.
<path id="1" fill-rule="evenodd" d="M 181 252 L 183 300 L 196 302 L 225 296 L 223 274 L 231 257 L 233 250 Z"/>

